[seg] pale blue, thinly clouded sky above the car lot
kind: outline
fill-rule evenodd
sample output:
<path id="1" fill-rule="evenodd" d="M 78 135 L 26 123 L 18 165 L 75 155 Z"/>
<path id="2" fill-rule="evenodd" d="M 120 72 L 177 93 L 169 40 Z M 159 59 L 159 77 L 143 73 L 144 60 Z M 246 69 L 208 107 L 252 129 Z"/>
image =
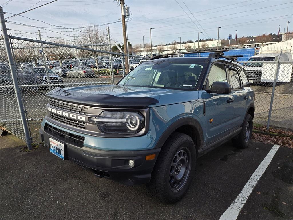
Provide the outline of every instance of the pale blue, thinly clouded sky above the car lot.
<path id="1" fill-rule="evenodd" d="M 7 0 L 0 0 L 0 5 L 4 12 L 8 12 L 5 15 L 8 18 L 12 16 L 9 13 L 21 13 L 50 0 L 6 2 Z M 125 0 L 125 4 L 131 12 L 127 19 L 127 33 L 132 45 L 142 44 L 142 35 L 145 35 L 144 43 L 149 43 L 150 28 L 155 28 L 152 30 L 153 45 L 171 43 L 174 40 L 194 40 L 199 32 L 202 32 L 200 39 L 217 39 L 218 26 L 221 27 L 220 39 L 227 39 L 229 34 L 235 38 L 236 30 L 238 37 L 277 33 L 279 25 L 282 33 L 284 28 L 287 29 L 287 21 L 290 21 L 289 31 L 293 30 L 292 0 Z M 8 33 L 36 38 L 40 29 L 45 40 L 61 37 L 70 42 L 73 40 L 73 30 L 68 28 L 83 30 L 81 27 L 100 25 L 99 28 L 103 30 L 110 27 L 112 40 L 123 42 L 121 9 L 116 0 L 58 0 L 22 15 L 28 18 L 8 18 L 6 26 L 11 29 Z M 79 34 L 75 31 L 76 38 Z"/>

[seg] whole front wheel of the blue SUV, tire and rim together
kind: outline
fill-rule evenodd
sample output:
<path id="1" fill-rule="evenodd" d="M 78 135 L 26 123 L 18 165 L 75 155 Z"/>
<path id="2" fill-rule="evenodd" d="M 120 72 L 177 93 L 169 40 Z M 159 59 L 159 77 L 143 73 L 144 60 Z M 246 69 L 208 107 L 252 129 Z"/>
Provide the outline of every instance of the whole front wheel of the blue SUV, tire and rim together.
<path id="1" fill-rule="evenodd" d="M 174 132 L 157 158 L 150 192 L 161 202 L 172 204 L 183 198 L 192 181 L 196 164 L 195 144 L 190 136 Z"/>

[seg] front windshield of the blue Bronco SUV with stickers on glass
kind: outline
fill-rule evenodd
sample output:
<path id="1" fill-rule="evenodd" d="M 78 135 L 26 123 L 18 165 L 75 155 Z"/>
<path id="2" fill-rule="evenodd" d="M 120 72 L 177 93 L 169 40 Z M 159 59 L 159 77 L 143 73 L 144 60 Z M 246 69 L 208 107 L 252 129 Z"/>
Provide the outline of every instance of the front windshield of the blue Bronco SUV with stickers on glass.
<path id="1" fill-rule="evenodd" d="M 193 89 L 203 65 L 186 62 L 144 62 L 134 68 L 118 85 Z"/>

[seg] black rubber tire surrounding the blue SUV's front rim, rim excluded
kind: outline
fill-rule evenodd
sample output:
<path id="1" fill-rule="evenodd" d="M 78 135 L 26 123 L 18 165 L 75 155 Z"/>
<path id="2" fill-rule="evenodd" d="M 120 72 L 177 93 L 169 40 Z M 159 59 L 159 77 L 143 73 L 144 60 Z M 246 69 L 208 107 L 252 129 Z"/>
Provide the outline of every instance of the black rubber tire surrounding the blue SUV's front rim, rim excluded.
<path id="1" fill-rule="evenodd" d="M 181 149 L 183 149 L 183 152 L 184 150 L 186 150 L 186 152 L 189 151 L 188 162 L 190 165 L 188 164 L 188 162 L 186 163 L 189 166 L 189 172 L 185 175 L 186 180 L 183 179 L 184 183 L 181 186 L 182 188 L 179 191 L 174 192 L 174 189 L 172 189 L 170 183 L 172 178 L 170 176 L 170 169 L 174 157 L 177 155 L 178 152 L 181 151 Z M 192 181 L 192 177 L 195 171 L 195 164 L 196 149 L 193 140 L 190 138 L 190 136 L 186 134 L 174 132 L 171 137 L 169 137 L 167 141 L 163 144 L 163 147 L 156 160 L 156 164 L 152 172 L 151 181 L 147 184 L 152 196 L 167 204 L 172 204 L 182 199 Z"/>

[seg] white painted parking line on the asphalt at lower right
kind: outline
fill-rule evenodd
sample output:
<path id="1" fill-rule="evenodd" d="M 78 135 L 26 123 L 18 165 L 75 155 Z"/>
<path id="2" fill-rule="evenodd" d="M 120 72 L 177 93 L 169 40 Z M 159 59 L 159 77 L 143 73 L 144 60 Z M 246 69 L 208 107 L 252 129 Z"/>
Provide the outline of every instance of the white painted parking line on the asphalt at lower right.
<path id="1" fill-rule="evenodd" d="M 243 187 L 242 191 L 239 193 L 237 198 L 232 202 L 230 207 L 224 212 L 221 216 L 220 220 L 236 220 L 241 209 L 243 208 L 246 200 L 248 199 L 249 195 L 251 194 L 252 190 L 254 189 L 255 185 L 258 183 L 258 180 L 263 175 L 265 170 L 267 169 L 268 165 L 270 164 L 272 158 L 274 157 L 275 153 L 279 149 L 280 145 L 274 145 L 270 152 L 266 155 L 265 159 L 260 163 L 258 168 L 254 171 L 251 175 L 250 179 Z"/>

